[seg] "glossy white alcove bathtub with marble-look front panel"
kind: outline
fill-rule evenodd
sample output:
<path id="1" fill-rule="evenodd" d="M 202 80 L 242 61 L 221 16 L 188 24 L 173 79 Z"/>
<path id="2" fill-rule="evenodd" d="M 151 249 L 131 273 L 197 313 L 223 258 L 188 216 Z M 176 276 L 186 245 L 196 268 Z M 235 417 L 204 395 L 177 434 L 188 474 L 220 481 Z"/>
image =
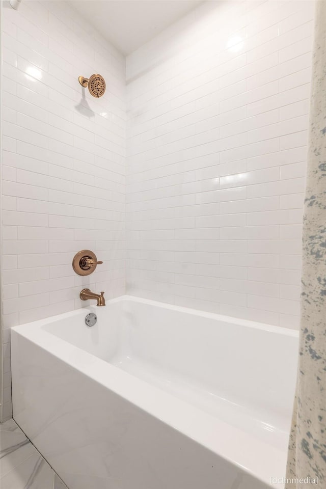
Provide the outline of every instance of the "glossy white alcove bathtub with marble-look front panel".
<path id="1" fill-rule="evenodd" d="M 292 330 L 119 297 L 12 329 L 14 419 L 70 489 L 266 489 L 296 358 Z"/>

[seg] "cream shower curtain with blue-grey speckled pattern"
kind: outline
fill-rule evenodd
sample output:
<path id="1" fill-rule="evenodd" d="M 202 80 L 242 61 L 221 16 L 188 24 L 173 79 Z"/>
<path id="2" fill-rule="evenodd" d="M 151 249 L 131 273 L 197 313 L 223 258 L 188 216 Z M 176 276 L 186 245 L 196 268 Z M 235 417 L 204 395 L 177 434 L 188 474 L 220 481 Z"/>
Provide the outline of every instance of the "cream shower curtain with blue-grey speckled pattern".
<path id="1" fill-rule="evenodd" d="M 326 1 L 316 2 L 301 331 L 285 489 L 326 488 Z"/>

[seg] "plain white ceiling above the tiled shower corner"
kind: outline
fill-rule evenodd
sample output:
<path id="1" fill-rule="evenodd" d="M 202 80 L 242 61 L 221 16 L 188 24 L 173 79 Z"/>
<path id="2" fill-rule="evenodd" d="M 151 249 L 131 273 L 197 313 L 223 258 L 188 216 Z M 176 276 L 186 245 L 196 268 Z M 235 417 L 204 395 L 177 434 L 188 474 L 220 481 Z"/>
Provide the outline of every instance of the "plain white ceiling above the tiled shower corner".
<path id="1" fill-rule="evenodd" d="M 138 49 L 201 3 L 195 0 L 70 0 L 70 5 L 124 55 Z"/>

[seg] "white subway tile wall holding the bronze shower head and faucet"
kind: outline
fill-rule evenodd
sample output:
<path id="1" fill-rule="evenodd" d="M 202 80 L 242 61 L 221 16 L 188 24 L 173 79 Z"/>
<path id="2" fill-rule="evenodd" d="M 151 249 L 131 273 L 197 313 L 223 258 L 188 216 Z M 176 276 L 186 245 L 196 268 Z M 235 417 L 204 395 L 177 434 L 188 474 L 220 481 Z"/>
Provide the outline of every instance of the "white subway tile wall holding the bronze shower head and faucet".
<path id="1" fill-rule="evenodd" d="M 66 2 L 3 7 L 4 419 L 9 327 L 81 306 L 82 285 L 125 293 L 125 59 Z M 93 98 L 78 75 L 99 72 Z M 73 255 L 94 250 L 94 275 Z M 83 306 L 85 303 L 83 303 Z"/>

